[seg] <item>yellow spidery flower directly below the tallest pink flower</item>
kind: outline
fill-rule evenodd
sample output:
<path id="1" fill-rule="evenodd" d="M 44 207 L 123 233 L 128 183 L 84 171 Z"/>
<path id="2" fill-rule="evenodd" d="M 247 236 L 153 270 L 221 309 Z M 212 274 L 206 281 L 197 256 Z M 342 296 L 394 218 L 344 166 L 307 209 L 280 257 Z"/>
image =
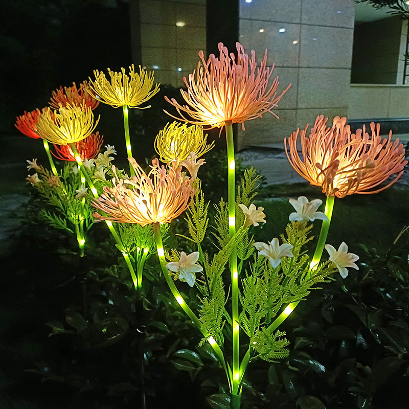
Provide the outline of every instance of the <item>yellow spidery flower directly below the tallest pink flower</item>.
<path id="1" fill-rule="evenodd" d="M 207 138 L 199 125 L 168 122 L 156 135 L 155 150 L 163 162 L 186 161 L 191 152 L 200 157 L 214 147 Z"/>

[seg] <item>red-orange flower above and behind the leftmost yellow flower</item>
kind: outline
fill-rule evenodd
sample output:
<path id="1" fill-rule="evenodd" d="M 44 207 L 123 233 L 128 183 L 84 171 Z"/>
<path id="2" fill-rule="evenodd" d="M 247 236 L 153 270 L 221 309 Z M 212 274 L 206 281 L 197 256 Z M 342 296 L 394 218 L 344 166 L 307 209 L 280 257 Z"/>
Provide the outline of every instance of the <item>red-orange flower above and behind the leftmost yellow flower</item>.
<path id="1" fill-rule="evenodd" d="M 91 93 L 92 90 L 86 81 L 83 81 L 79 88 L 73 82 L 73 86 L 64 86 L 64 89 L 60 86 L 60 89 L 53 91 L 49 104 L 54 109 L 59 109 L 61 104 L 64 108 L 67 105 L 85 105 L 94 110 L 99 105 L 99 101 Z"/>

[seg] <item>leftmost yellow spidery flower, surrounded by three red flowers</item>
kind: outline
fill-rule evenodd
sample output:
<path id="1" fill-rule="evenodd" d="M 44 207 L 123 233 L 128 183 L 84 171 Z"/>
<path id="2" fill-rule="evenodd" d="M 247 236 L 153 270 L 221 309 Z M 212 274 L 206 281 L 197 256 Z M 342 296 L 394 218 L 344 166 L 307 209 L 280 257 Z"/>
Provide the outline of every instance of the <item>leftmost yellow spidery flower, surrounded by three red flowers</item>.
<path id="1" fill-rule="evenodd" d="M 66 105 L 55 111 L 50 108 L 38 117 L 37 130 L 41 138 L 56 144 L 67 145 L 80 142 L 93 132 L 99 118 L 94 123 L 94 114 L 89 106 Z"/>

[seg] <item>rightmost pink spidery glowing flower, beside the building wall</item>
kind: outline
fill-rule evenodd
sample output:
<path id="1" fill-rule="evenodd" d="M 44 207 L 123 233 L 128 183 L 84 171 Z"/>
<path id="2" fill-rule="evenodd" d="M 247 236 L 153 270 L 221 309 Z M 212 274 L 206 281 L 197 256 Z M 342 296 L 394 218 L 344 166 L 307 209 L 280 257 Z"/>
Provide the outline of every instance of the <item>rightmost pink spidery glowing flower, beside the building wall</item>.
<path id="1" fill-rule="evenodd" d="M 315 120 L 310 136 L 308 124 L 284 139 L 285 151 L 291 166 L 311 185 L 321 186 L 327 196 L 344 197 L 354 193 L 378 193 L 393 185 L 407 164 L 405 150 L 399 139 L 391 141 L 379 136 L 379 124 L 371 123 L 372 135 L 363 129 L 351 133 L 346 118 L 335 117 L 332 127 L 326 126 L 323 115 Z M 301 138 L 302 158 L 297 151 Z M 381 183 L 397 174 L 388 184 Z"/>

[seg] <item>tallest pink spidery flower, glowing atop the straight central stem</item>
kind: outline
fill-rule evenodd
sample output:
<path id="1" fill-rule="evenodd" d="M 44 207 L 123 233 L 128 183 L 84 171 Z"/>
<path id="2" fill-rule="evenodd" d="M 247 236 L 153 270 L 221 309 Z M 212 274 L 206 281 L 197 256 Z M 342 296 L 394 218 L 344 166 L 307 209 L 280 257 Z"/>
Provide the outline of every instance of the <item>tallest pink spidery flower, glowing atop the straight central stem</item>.
<path id="1" fill-rule="evenodd" d="M 181 118 L 173 117 L 194 125 L 207 126 L 205 129 L 221 128 L 226 121 L 241 123 L 261 117 L 277 106 L 288 87 L 277 96 L 278 77 L 268 87 L 272 67 L 266 67 L 267 50 L 259 67 L 256 53 L 252 50 L 251 59 L 244 53 L 243 46 L 237 42 L 237 62 L 233 53 L 219 43 L 220 57 L 213 54 L 205 61 L 203 51 L 199 51 L 201 62 L 197 70 L 183 78 L 188 90 L 180 93 L 188 105 L 180 105 L 175 99 L 171 103 Z M 196 73 L 196 78 L 195 78 Z M 187 113 L 191 118 L 186 118 Z M 274 112 L 271 112 L 274 114 Z M 277 117 L 277 115 L 275 115 Z"/>

